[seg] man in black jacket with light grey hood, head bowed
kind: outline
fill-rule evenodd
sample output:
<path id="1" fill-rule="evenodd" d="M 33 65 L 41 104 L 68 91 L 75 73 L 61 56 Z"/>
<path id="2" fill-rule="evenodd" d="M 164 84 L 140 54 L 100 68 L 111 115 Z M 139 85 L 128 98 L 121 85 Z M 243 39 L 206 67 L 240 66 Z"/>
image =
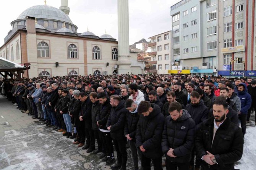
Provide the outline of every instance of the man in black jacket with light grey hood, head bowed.
<path id="1" fill-rule="evenodd" d="M 136 129 L 137 123 L 139 121 L 139 114 L 138 114 L 138 101 L 133 101 L 132 99 L 127 99 L 125 102 L 125 107 L 129 111 L 126 114 L 126 121 L 125 121 L 125 136 L 128 140 L 131 150 L 131 156 L 133 157 L 133 165 L 134 170 L 139 170 L 138 166 L 138 156 L 141 160 L 141 150 L 136 147 Z"/>

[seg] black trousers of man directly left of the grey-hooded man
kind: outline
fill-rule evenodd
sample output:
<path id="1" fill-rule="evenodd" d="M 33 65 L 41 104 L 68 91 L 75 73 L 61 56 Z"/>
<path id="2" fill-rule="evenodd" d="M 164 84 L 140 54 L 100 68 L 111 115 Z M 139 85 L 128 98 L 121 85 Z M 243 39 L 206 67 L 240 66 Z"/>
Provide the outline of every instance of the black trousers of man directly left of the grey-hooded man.
<path id="1" fill-rule="evenodd" d="M 123 140 L 113 140 L 115 145 L 115 150 L 117 151 L 117 162 L 122 165 L 122 167 L 126 167 L 127 162 L 127 151 L 125 146 L 126 138 Z"/>

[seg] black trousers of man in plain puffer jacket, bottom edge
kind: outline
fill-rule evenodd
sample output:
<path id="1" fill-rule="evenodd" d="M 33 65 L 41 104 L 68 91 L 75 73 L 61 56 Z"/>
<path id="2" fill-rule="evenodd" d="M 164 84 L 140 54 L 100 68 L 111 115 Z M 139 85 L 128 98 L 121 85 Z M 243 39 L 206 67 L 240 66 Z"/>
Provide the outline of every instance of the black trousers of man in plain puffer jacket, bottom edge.
<path id="1" fill-rule="evenodd" d="M 154 170 L 163 170 L 162 168 L 162 157 L 156 158 L 156 159 L 150 159 L 143 154 L 141 155 L 141 166 L 143 167 L 143 170 L 151 170 L 151 160 L 153 162 Z"/>

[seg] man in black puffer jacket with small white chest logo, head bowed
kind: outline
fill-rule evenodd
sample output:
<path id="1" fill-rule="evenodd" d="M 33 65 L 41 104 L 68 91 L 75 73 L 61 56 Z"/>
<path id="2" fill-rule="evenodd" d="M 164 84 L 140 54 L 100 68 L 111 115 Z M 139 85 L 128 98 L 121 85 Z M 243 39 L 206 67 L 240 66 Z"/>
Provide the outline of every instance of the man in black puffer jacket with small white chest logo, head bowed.
<path id="1" fill-rule="evenodd" d="M 188 170 L 191 151 L 194 146 L 196 124 L 181 104 L 172 102 L 168 109 L 162 134 L 162 151 L 165 154 L 166 169 Z"/>

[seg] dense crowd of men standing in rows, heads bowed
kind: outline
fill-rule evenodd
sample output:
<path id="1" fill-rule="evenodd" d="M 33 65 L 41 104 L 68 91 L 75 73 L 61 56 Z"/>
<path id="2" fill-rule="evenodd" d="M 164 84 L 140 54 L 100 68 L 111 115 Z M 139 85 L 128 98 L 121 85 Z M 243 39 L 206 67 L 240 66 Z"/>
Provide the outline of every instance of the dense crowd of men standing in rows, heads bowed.
<path id="1" fill-rule="evenodd" d="M 233 170 L 256 110 L 256 80 L 222 75 L 0 79 L 0 92 L 113 170 L 126 170 L 127 143 L 135 170 Z"/>

